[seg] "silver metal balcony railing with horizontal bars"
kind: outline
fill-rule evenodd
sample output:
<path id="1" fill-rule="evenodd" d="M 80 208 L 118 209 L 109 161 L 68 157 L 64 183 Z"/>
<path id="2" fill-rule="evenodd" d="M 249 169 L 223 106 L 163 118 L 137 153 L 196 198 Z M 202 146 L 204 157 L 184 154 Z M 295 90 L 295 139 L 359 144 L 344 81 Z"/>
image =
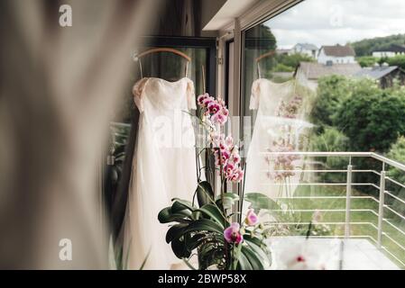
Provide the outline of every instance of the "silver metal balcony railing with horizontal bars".
<path id="1" fill-rule="evenodd" d="M 336 237 L 336 238 L 369 238 L 372 240 L 377 247 L 385 251 L 388 255 L 394 258 L 396 261 L 400 263 L 401 266 L 405 267 L 405 230 L 398 225 L 398 220 L 403 221 L 402 223 L 405 224 L 405 215 L 403 211 L 405 211 L 405 199 L 401 198 L 399 194 L 392 193 L 392 191 L 388 191 L 386 189 L 386 185 L 390 183 L 391 185 L 397 186 L 400 189 L 405 189 L 405 184 L 400 183 L 400 181 L 396 179 L 392 179 L 390 176 L 387 175 L 387 171 L 390 167 L 395 167 L 405 175 L 405 165 L 396 162 L 392 159 L 387 157 L 382 157 L 373 152 L 262 152 L 263 156 L 270 156 L 270 157 L 279 157 L 282 155 L 285 156 L 299 156 L 299 157 L 347 157 L 348 164 L 346 169 L 297 169 L 297 170 L 289 170 L 290 172 L 299 172 L 299 173 L 345 173 L 345 183 L 320 183 L 320 182 L 313 182 L 313 183 L 283 183 L 287 185 L 310 185 L 310 186 L 343 186 L 345 187 L 345 196 L 290 196 L 290 197 L 277 197 L 276 200 L 282 199 L 293 199 L 295 200 L 314 200 L 314 199 L 345 199 L 345 209 L 323 209 L 323 207 L 319 207 L 319 209 L 298 209 L 293 210 L 297 212 L 345 212 L 345 221 L 325 221 L 325 222 L 318 222 L 319 224 L 325 225 L 344 225 L 345 227 L 345 234 L 344 235 L 332 235 L 329 237 Z M 354 165 L 352 164 L 352 160 L 354 157 L 370 157 L 377 160 L 381 164 L 381 169 L 354 169 Z M 283 172 L 286 170 L 276 170 L 276 172 Z M 355 183 L 353 181 L 354 173 L 371 173 L 373 175 L 378 175 L 380 181 L 378 184 L 375 183 Z M 378 193 L 378 198 L 374 197 L 373 195 L 354 195 L 352 193 L 353 187 L 356 186 L 369 186 L 375 189 Z M 387 197 L 391 197 L 392 201 L 398 201 L 400 205 L 403 205 L 404 210 L 397 211 L 391 205 L 387 203 Z M 369 199 L 372 202 L 376 202 L 378 204 L 378 211 L 368 208 L 358 208 L 352 209 L 351 204 L 354 199 Z M 377 218 L 376 224 L 373 221 L 351 221 L 351 216 L 353 212 L 359 213 L 372 213 L 374 217 Z M 390 214 L 390 217 L 387 215 Z M 396 218 L 397 221 L 392 220 L 392 218 Z M 308 224 L 306 222 L 285 222 L 285 223 L 274 223 L 275 225 L 297 225 L 297 224 Z M 391 229 L 397 232 L 396 236 L 394 237 L 391 233 L 384 231 L 383 225 L 387 225 L 386 227 L 390 227 Z M 372 229 L 376 230 L 377 237 L 373 237 L 373 235 L 351 235 L 351 225 L 368 225 Z M 404 225 L 405 227 L 405 225 Z M 374 234 L 375 236 L 375 234 Z M 322 236 L 320 236 L 322 237 Z M 383 245 L 383 239 L 391 241 L 394 246 L 398 247 L 401 251 L 400 257 L 393 252 L 392 245 L 390 247 L 386 247 Z M 402 253 L 403 252 L 403 253 Z"/>

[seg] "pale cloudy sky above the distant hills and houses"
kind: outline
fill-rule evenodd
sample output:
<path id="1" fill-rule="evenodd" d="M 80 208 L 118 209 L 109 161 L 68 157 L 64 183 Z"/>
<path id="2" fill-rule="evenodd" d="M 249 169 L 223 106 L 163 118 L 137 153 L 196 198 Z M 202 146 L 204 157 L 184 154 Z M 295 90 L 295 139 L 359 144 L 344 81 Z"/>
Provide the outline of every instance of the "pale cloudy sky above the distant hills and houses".
<path id="1" fill-rule="evenodd" d="M 265 23 L 279 48 L 405 33 L 405 0 L 305 0 Z"/>

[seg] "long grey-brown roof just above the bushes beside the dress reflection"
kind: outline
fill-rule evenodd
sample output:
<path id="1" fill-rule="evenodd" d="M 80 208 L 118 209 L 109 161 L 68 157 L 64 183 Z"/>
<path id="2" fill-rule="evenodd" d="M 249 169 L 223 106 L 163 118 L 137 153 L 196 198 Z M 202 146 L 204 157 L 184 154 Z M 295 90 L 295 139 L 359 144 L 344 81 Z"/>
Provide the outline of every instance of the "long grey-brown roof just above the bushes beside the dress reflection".
<path id="1" fill-rule="evenodd" d="M 316 62 L 300 62 L 298 69 L 309 80 L 318 80 L 321 76 L 342 75 L 353 76 L 359 72 L 362 67 L 357 63 L 351 64 L 333 64 L 330 66 Z"/>

